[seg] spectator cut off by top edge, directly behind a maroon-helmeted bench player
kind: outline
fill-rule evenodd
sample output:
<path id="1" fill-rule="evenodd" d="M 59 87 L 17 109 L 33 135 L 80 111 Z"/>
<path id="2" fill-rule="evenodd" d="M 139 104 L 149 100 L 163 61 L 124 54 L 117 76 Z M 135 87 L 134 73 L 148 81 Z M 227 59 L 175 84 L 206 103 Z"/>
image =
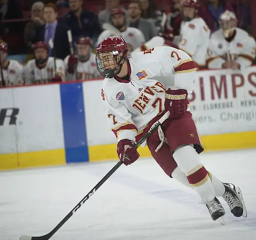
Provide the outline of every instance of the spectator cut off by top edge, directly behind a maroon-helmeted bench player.
<path id="1" fill-rule="evenodd" d="M 115 9 L 115 8 L 121 8 L 122 10 L 125 11 L 124 7 L 120 5 L 119 0 L 105 0 L 105 10 L 102 10 L 98 14 L 98 19 L 99 19 L 101 28 L 102 28 L 103 23 L 111 23 L 110 13 L 111 13 L 111 10 Z M 125 18 L 126 18 L 126 22 L 128 22 L 129 14 L 127 11 L 125 11 Z"/>

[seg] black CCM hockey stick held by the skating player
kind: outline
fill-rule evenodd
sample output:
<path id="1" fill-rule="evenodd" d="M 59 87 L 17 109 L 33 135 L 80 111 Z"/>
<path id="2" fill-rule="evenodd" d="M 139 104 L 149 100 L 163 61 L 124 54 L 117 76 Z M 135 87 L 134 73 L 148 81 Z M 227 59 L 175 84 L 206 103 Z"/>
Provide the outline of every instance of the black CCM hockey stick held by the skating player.
<path id="1" fill-rule="evenodd" d="M 137 143 L 135 148 L 137 149 L 146 139 L 149 137 L 168 117 L 169 117 L 169 112 L 166 112 L 152 127 L 151 129 L 143 136 Z M 65 224 L 71 217 L 72 215 L 89 199 L 91 196 L 99 189 L 99 187 L 109 179 L 109 177 L 116 172 L 116 170 L 119 168 L 119 166 L 122 165 L 122 161 L 120 160 L 112 170 L 110 170 L 109 173 L 107 173 L 98 183 L 97 185 L 86 195 L 70 212 L 69 214 L 48 234 L 44 236 L 21 236 L 19 239 L 20 240 L 48 240 L 50 239 L 54 233 L 56 233 L 63 224 Z"/>

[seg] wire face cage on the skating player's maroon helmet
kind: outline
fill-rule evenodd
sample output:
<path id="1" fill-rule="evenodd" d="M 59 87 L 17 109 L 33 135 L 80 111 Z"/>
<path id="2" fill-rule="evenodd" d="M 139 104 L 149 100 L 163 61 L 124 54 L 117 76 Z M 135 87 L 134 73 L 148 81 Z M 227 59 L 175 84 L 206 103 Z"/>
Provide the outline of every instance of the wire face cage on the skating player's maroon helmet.
<path id="1" fill-rule="evenodd" d="M 123 60 L 125 59 L 124 54 L 120 56 L 122 52 L 112 51 L 103 52 L 96 54 L 96 66 L 104 77 L 113 78 L 115 75 L 120 73 Z"/>

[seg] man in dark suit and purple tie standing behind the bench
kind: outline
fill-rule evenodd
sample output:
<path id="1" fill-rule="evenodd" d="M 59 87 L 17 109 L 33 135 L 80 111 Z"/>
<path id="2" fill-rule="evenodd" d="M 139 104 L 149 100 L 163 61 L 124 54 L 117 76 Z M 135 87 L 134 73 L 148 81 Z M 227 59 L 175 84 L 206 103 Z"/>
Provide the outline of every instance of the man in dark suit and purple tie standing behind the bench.
<path id="1" fill-rule="evenodd" d="M 70 54 L 70 45 L 67 34 L 70 29 L 65 24 L 57 22 L 57 15 L 56 5 L 48 3 L 44 8 L 46 24 L 37 29 L 36 41 L 48 43 L 49 56 L 64 59 Z M 53 49 L 51 49 L 51 41 L 54 43 Z"/>

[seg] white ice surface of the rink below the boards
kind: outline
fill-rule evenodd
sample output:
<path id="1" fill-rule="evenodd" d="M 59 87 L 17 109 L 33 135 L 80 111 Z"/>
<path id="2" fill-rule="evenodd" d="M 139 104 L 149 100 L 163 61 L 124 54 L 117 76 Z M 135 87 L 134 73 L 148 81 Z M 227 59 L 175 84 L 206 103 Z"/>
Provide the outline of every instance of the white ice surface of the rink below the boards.
<path id="1" fill-rule="evenodd" d="M 193 189 L 169 179 L 153 159 L 122 165 L 52 240 L 256 239 L 256 150 L 201 154 L 206 168 L 240 186 L 248 218 L 226 209 L 211 220 Z M 0 172 L 0 240 L 51 231 L 114 162 Z"/>

